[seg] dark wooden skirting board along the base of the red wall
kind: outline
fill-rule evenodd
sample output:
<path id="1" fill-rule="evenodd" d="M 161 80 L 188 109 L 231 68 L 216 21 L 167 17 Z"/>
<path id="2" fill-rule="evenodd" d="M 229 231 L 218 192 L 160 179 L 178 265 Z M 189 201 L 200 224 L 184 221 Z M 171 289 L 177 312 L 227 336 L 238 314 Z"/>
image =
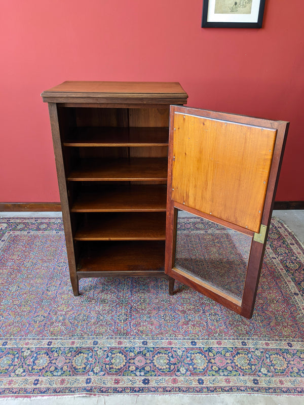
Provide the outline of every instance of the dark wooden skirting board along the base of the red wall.
<path id="1" fill-rule="evenodd" d="M 304 210 L 304 201 L 275 201 L 274 210 Z M 60 203 L 0 203 L 0 212 L 61 211 Z"/>

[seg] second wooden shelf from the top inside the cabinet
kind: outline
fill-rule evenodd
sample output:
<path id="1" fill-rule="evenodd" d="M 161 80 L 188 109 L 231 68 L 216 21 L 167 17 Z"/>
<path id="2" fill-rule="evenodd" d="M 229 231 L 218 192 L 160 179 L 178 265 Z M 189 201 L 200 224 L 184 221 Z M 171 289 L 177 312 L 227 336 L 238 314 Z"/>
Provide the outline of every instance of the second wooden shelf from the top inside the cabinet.
<path id="1" fill-rule="evenodd" d="M 167 180 L 167 158 L 134 157 L 121 159 L 83 159 L 72 170 L 70 181 Z"/>

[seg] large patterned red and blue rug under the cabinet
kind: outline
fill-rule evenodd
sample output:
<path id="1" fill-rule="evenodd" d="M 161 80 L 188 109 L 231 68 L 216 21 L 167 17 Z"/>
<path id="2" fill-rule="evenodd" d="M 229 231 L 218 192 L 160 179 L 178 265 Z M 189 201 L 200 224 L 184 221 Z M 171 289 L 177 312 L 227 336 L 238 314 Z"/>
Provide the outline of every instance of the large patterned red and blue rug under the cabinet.
<path id="1" fill-rule="evenodd" d="M 74 297 L 59 218 L 0 219 L 0 254 L 0 397 L 304 393 L 304 251 L 279 220 L 250 320 L 157 278 Z"/>

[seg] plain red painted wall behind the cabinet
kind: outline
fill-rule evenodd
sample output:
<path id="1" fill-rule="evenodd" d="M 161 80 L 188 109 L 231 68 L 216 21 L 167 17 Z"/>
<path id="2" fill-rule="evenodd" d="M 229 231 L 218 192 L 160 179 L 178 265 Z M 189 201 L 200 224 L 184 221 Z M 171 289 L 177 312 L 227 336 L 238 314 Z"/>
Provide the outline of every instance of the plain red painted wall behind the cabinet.
<path id="1" fill-rule="evenodd" d="M 262 29 L 201 28 L 201 12 L 202 0 L 2 2 L 0 201 L 59 201 L 40 94 L 64 80 L 177 81 L 189 106 L 288 120 L 276 199 L 304 200 L 302 0 L 266 0 Z"/>

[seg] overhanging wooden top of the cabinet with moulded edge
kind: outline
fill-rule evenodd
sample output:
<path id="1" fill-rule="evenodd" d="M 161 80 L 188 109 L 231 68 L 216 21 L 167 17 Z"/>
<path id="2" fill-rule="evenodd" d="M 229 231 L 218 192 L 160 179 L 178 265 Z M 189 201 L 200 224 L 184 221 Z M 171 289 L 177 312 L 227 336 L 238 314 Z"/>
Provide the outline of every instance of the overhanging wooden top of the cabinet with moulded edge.
<path id="1" fill-rule="evenodd" d="M 56 98 L 177 98 L 187 93 L 177 82 L 63 82 L 42 93 L 44 101 Z M 58 101 L 58 102 L 60 102 Z"/>

